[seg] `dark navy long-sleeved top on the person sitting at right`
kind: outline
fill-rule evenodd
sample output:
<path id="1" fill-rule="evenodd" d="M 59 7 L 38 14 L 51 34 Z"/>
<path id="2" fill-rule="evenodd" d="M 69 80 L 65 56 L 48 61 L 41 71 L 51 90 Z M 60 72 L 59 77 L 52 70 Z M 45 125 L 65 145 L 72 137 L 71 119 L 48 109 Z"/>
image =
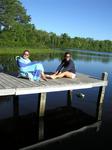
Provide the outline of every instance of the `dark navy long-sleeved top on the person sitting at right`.
<path id="1" fill-rule="evenodd" d="M 62 60 L 61 64 L 58 66 L 56 71 L 58 71 L 58 72 L 69 71 L 72 73 L 76 73 L 75 64 L 74 64 L 73 60 L 70 60 L 70 61 Z"/>

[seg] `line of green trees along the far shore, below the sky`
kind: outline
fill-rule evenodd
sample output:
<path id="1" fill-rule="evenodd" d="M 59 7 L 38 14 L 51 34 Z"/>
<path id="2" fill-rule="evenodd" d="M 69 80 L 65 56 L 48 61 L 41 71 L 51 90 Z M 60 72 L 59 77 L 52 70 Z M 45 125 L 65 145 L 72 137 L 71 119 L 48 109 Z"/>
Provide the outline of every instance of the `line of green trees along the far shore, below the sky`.
<path id="1" fill-rule="evenodd" d="M 0 0 L 0 47 L 75 48 L 112 51 L 112 41 L 56 35 L 36 29 L 19 0 Z"/>

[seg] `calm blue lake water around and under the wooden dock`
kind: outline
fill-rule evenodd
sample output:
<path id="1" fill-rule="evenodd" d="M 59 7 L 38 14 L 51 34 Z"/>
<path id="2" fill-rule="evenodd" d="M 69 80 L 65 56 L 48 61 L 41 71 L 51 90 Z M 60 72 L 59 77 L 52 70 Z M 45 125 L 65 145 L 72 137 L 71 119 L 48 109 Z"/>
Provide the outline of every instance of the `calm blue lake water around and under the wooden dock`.
<path id="1" fill-rule="evenodd" d="M 62 55 L 62 54 L 61 54 Z M 31 56 L 32 60 L 38 60 L 45 68 L 46 72 L 54 72 L 61 62 L 60 55 L 48 54 Z M 1 71 L 4 68 L 4 72 L 11 73 L 13 75 L 17 72 L 15 63 L 15 56 L 0 56 L 0 68 Z M 76 136 L 73 136 L 67 140 L 63 140 L 60 143 L 46 146 L 46 149 L 76 149 L 97 147 L 107 149 L 108 145 L 111 144 L 112 139 L 112 56 L 107 53 L 97 55 L 86 53 L 73 53 L 73 60 L 76 66 L 77 72 L 89 74 L 96 77 L 101 77 L 102 72 L 108 72 L 109 84 L 106 88 L 103 115 L 102 115 L 102 126 L 99 132 L 84 132 Z M 78 98 L 77 93 L 84 93 L 84 100 Z M 95 115 L 96 111 L 96 100 L 98 96 L 98 88 L 77 90 L 73 92 L 72 106 L 76 107 L 87 114 L 92 116 Z M 49 93 L 47 97 L 46 110 L 55 110 L 66 106 L 66 92 L 55 92 Z M 24 95 L 19 96 L 19 116 L 26 116 L 26 121 L 22 121 L 24 128 L 20 121 L 19 132 L 21 132 L 21 139 L 18 135 L 13 132 L 13 123 L 8 124 L 13 119 L 13 101 L 12 97 L 1 97 L 0 98 L 0 139 L 2 139 L 4 147 L 8 145 L 12 149 L 17 147 L 23 147 L 36 142 L 37 129 L 35 128 L 36 117 L 33 115 L 37 112 L 38 95 Z M 21 119 L 22 120 L 22 119 Z M 24 119 L 23 119 L 24 120 Z M 27 124 L 28 123 L 28 124 Z M 27 124 L 27 125 L 26 125 Z M 9 125 L 9 126 L 7 126 Z M 64 128 L 64 127 L 63 127 Z M 18 128 L 17 128 L 18 129 Z M 23 132 L 25 129 L 25 133 Z M 31 131 L 29 131 L 29 129 Z M 58 130 L 58 128 L 55 130 Z M 61 129 L 60 129 L 61 130 Z M 72 130 L 72 128 L 71 128 Z M 66 131 L 66 130 L 65 130 Z M 50 132 L 49 130 L 47 131 Z M 57 131 L 54 131 L 57 132 Z M 26 134 L 26 136 L 25 136 Z M 52 134 L 53 135 L 53 134 Z M 55 135 L 55 133 L 54 133 Z M 18 140 L 14 140 L 15 137 Z M 23 139 L 22 139 L 23 137 Z M 10 140 L 9 140 L 10 139 Z M 14 140 L 14 141 L 13 141 Z M 20 140 L 20 141 L 19 141 Z M 8 142 L 9 141 L 9 142 Z M 12 144 L 13 143 L 13 144 Z M 18 144 L 20 143 L 20 144 Z M 82 144 L 81 144 L 82 143 Z M 6 144 L 6 145 L 5 145 Z M 2 145 L 2 146 L 3 146 Z M 73 148 L 73 149 L 74 149 Z M 1 148 L 0 148 L 1 149 Z M 4 148 L 3 148 L 4 149 Z"/>

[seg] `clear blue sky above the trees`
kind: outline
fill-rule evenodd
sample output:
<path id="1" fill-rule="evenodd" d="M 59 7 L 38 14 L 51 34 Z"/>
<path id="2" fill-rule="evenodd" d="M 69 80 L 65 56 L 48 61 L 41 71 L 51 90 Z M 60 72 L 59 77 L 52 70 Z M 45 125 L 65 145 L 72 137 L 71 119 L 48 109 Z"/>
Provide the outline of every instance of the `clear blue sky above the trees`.
<path id="1" fill-rule="evenodd" d="M 112 0 L 21 0 L 37 29 L 112 40 Z"/>

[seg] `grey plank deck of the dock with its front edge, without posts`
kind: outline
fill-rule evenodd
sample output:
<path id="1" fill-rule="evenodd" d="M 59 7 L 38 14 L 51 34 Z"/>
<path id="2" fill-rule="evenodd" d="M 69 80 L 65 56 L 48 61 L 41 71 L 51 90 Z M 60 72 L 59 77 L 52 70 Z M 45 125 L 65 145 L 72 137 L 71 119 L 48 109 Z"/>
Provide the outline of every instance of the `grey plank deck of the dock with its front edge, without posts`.
<path id="1" fill-rule="evenodd" d="M 100 86 L 107 86 L 107 81 L 80 73 L 77 74 L 75 79 L 49 79 L 48 81 L 40 82 L 31 82 L 28 79 L 21 79 L 0 73 L 0 96 L 87 89 Z"/>

